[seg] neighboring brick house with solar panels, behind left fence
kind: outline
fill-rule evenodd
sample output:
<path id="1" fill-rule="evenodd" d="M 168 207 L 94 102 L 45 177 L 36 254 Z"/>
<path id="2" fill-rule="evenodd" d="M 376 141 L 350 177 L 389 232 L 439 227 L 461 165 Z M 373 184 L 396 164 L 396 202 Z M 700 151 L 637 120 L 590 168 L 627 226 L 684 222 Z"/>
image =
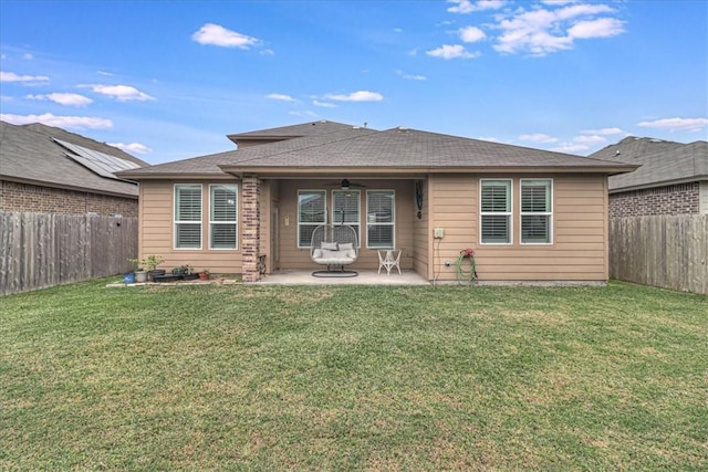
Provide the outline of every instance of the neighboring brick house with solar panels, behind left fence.
<path id="1" fill-rule="evenodd" d="M 147 165 L 60 128 L 0 122 L 0 211 L 137 217 L 137 182 L 114 172 Z"/>

